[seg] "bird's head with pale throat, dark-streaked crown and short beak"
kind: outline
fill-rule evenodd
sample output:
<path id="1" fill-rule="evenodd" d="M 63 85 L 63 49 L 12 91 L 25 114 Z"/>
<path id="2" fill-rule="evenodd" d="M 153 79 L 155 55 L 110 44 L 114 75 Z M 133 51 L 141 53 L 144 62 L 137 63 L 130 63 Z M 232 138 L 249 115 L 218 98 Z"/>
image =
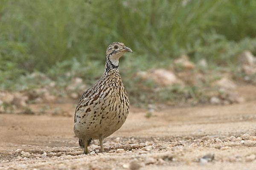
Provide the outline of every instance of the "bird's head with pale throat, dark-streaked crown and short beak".
<path id="1" fill-rule="evenodd" d="M 111 43 L 106 51 L 106 66 L 111 68 L 118 68 L 119 58 L 125 52 L 131 52 L 131 48 L 128 48 L 122 42 Z"/>

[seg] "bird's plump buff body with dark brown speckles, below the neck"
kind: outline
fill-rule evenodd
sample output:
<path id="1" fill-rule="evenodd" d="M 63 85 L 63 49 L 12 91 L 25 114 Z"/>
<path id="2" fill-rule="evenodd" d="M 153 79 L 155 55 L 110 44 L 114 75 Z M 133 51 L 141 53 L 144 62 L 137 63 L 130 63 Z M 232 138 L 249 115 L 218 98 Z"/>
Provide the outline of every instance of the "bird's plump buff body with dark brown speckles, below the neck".
<path id="1" fill-rule="evenodd" d="M 125 122 L 129 100 L 119 71 L 105 72 L 81 96 L 75 113 L 74 132 L 79 139 L 110 136 Z"/>

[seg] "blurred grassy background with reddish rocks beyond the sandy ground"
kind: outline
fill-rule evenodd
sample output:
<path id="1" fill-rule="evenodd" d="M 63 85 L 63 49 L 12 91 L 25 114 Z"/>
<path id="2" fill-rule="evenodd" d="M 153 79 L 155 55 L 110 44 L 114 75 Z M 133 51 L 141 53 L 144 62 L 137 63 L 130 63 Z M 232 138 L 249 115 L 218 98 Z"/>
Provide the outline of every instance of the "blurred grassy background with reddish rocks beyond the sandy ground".
<path id="1" fill-rule="evenodd" d="M 76 103 L 103 74 L 111 42 L 134 51 L 119 63 L 132 105 L 244 102 L 234 89 L 256 84 L 255 9 L 254 0 L 1 0 L 0 111 Z"/>

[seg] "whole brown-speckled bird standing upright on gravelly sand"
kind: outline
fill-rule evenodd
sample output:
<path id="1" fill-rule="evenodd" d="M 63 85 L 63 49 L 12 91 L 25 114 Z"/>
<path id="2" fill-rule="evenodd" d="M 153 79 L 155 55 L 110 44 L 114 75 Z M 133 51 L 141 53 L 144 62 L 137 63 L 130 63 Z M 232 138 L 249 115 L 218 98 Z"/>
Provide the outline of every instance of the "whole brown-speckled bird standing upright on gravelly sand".
<path id="1" fill-rule="evenodd" d="M 99 152 L 104 152 L 103 140 L 118 130 L 128 116 L 129 99 L 118 70 L 119 58 L 126 52 L 133 53 L 122 42 L 111 43 L 102 77 L 79 99 L 74 133 L 80 147 L 84 147 L 84 154 L 89 153 L 88 145 L 93 139 L 99 139 Z"/>

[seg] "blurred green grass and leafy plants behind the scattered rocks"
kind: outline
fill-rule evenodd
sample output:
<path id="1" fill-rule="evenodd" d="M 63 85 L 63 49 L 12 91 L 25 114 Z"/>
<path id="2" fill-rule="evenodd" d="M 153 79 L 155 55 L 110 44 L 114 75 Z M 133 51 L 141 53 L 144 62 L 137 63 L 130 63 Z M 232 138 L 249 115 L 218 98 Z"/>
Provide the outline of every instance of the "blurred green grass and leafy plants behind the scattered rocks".
<path id="1" fill-rule="evenodd" d="M 52 79 L 70 72 L 93 84 L 114 41 L 134 51 L 120 63 L 127 77 L 181 54 L 229 65 L 241 51 L 256 51 L 255 0 L 184 2 L 1 0 L 0 88 L 22 89 L 17 82 L 33 71 Z M 131 93 L 137 81 L 126 81 Z"/>

